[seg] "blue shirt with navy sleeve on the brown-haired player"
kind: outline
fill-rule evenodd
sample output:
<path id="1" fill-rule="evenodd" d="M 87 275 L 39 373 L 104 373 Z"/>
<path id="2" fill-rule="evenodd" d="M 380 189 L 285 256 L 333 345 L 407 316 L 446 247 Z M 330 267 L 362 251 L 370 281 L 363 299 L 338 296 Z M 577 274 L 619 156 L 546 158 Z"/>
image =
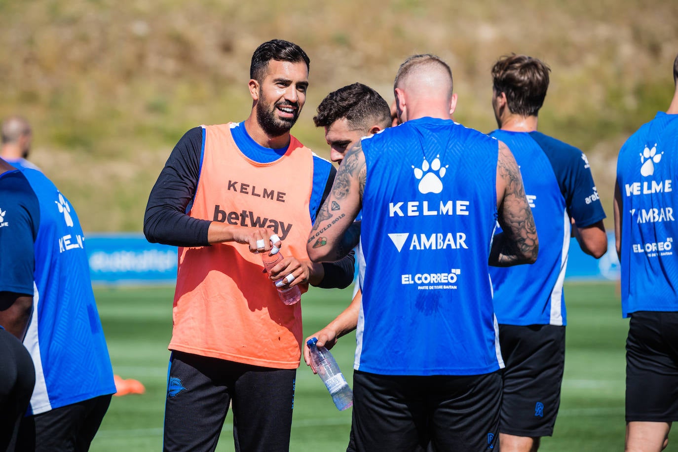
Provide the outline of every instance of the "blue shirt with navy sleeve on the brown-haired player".
<path id="1" fill-rule="evenodd" d="M 563 281 L 572 226 L 605 218 L 589 161 L 581 150 L 539 132 L 495 130 L 509 146 L 525 184 L 539 236 L 532 265 L 490 267 L 494 309 L 502 325 L 567 325 Z"/>

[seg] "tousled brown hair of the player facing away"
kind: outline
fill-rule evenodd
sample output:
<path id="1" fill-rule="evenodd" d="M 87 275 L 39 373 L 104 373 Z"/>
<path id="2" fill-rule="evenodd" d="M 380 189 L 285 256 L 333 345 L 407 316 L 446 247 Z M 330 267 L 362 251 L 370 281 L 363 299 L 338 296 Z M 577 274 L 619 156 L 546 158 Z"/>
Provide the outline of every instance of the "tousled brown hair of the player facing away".
<path id="1" fill-rule="evenodd" d="M 536 116 L 549 89 L 550 71 L 544 62 L 531 56 L 502 56 L 492 68 L 494 90 L 506 94 L 512 113 Z"/>

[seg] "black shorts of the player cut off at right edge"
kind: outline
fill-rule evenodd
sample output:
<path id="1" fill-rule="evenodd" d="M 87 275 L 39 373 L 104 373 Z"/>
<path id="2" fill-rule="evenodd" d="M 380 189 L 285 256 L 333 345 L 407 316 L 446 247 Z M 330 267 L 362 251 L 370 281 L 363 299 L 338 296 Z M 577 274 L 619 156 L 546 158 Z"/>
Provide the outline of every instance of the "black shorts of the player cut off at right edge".
<path id="1" fill-rule="evenodd" d="M 678 312 L 631 314 L 626 422 L 678 421 Z"/>

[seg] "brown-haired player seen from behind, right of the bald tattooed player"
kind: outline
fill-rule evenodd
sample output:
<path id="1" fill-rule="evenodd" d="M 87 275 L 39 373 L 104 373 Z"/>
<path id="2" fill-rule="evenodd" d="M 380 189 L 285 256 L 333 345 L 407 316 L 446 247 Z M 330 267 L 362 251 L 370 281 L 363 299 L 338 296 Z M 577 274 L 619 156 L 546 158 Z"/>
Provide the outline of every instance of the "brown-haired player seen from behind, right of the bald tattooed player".
<path id="1" fill-rule="evenodd" d="M 594 258 L 607 250 L 605 212 L 589 161 L 577 148 L 537 131 L 549 70 L 536 58 L 515 54 L 492 68 L 500 128 L 490 136 L 513 152 L 541 245 L 533 266 L 490 269 L 506 365 L 502 451 L 536 451 L 540 437 L 553 434 L 565 365 L 563 279 L 571 232 Z"/>

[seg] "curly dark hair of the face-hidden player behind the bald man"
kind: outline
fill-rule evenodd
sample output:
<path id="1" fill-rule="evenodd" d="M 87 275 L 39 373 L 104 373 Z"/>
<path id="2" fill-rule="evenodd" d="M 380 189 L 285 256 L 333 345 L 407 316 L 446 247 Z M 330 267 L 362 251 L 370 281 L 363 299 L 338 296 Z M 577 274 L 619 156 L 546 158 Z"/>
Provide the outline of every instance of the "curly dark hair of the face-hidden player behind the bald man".
<path id="1" fill-rule="evenodd" d="M 351 127 L 363 129 L 374 119 L 384 128 L 391 125 L 391 107 L 377 91 L 362 83 L 353 83 L 327 94 L 313 117 L 316 127 L 329 127 L 338 119 L 346 118 Z"/>

